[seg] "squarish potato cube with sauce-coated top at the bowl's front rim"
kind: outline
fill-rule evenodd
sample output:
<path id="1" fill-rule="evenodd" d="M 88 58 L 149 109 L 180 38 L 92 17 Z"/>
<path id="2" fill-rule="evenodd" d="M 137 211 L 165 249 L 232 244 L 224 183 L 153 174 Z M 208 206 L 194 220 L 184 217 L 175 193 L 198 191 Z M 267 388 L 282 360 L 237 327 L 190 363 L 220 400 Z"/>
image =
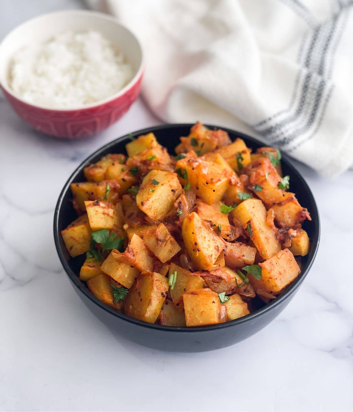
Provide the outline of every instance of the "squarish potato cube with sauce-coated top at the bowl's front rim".
<path id="1" fill-rule="evenodd" d="M 192 290 L 182 295 L 187 326 L 213 325 L 222 321 L 220 299 L 210 289 Z"/>

